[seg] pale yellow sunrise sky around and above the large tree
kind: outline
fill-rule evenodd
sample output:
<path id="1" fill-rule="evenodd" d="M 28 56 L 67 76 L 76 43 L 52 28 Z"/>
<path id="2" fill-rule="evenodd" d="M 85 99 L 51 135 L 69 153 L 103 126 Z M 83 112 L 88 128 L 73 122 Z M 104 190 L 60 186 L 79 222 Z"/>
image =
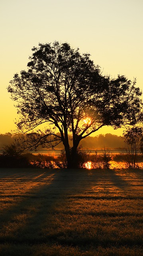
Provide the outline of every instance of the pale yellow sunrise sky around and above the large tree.
<path id="1" fill-rule="evenodd" d="M 7 86 L 31 48 L 55 40 L 90 53 L 103 74 L 137 79 L 143 90 L 143 0 L 0 0 L 0 133 L 18 119 Z M 143 96 L 142 96 L 143 98 Z M 121 135 L 104 127 L 93 134 Z"/>

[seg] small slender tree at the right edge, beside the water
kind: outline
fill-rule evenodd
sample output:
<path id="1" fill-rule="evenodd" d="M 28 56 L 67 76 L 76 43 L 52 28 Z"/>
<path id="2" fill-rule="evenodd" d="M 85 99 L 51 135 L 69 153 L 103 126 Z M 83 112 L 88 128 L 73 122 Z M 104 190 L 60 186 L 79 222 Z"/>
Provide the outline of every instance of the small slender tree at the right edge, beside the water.
<path id="1" fill-rule="evenodd" d="M 137 155 L 140 152 L 141 138 L 143 136 L 143 128 L 133 126 L 124 132 L 123 137 L 127 152 L 127 168 L 139 168 L 137 162 Z"/>

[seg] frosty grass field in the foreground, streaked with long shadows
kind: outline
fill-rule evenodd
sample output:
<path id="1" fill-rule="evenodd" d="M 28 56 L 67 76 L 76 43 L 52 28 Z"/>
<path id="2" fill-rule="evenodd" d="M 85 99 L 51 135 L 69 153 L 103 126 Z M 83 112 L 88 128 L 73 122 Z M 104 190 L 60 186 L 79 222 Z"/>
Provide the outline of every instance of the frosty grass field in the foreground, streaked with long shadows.
<path id="1" fill-rule="evenodd" d="M 143 255 L 143 170 L 0 169 L 0 256 Z"/>

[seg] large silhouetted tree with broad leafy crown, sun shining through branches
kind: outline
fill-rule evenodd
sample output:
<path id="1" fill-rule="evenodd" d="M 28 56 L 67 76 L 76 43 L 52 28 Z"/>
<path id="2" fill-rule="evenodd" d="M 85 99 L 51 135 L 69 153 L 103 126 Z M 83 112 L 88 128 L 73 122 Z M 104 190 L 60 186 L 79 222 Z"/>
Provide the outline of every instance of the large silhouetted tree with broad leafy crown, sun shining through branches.
<path id="1" fill-rule="evenodd" d="M 31 148 L 63 142 L 68 168 L 75 168 L 82 139 L 102 126 L 119 128 L 138 121 L 142 104 L 135 81 L 103 76 L 90 54 L 81 55 L 68 43 L 39 44 L 32 51 L 27 71 L 15 74 L 8 86 L 17 102 L 19 130 L 29 132 L 43 123 L 51 125 L 45 132 L 29 135 Z"/>

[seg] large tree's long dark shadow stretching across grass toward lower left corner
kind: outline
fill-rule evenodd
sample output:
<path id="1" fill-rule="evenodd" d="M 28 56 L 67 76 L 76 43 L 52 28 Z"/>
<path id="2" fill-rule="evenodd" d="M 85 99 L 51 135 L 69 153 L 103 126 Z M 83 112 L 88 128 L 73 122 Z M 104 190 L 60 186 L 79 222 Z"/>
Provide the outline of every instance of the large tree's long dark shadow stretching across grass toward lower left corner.
<path id="1" fill-rule="evenodd" d="M 10 177 L 13 176 L 18 178 L 17 174 L 5 178 L 10 181 Z M 86 170 L 44 170 L 43 173 L 39 172 L 36 175 L 29 174 L 29 177 L 28 181 L 36 183 L 35 186 L 24 194 L 17 195 L 18 202 L 0 214 L 1 242 L 47 242 L 47 238 L 51 238 L 49 235 L 45 236 L 42 231 L 45 219 L 51 218 L 56 211 L 55 206 L 62 204 L 67 196 L 81 193 L 90 186 L 90 182 L 87 182 L 90 176 Z M 17 181 L 27 181 L 25 174 Z"/>

